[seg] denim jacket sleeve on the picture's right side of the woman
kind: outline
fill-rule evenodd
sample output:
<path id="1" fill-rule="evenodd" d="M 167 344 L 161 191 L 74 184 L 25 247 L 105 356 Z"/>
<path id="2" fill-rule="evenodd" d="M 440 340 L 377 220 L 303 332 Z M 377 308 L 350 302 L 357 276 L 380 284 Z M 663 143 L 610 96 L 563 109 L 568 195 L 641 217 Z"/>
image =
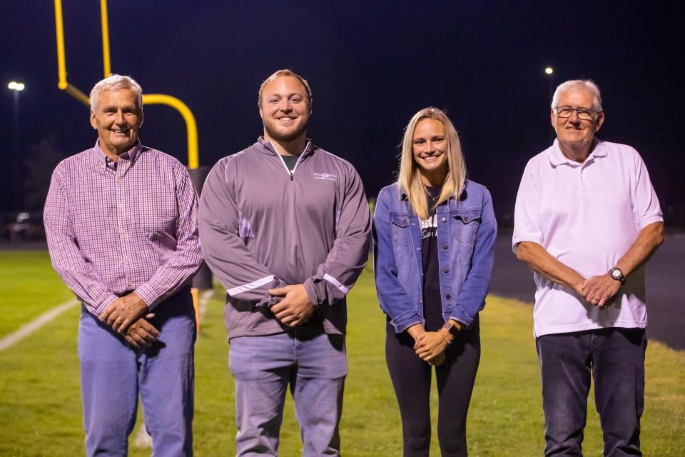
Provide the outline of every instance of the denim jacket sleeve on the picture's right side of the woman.
<path id="1" fill-rule="evenodd" d="M 471 268 L 457 303 L 450 310 L 450 318 L 470 326 L 478 311 L 485 306 L 490 288 L 490 275 L 494 262 L 494 241 L 497 238 L 497 221 L 494 219 L 492 199 L 487 189 L 483 195 L 483 212 L 471 258 Z"/>

